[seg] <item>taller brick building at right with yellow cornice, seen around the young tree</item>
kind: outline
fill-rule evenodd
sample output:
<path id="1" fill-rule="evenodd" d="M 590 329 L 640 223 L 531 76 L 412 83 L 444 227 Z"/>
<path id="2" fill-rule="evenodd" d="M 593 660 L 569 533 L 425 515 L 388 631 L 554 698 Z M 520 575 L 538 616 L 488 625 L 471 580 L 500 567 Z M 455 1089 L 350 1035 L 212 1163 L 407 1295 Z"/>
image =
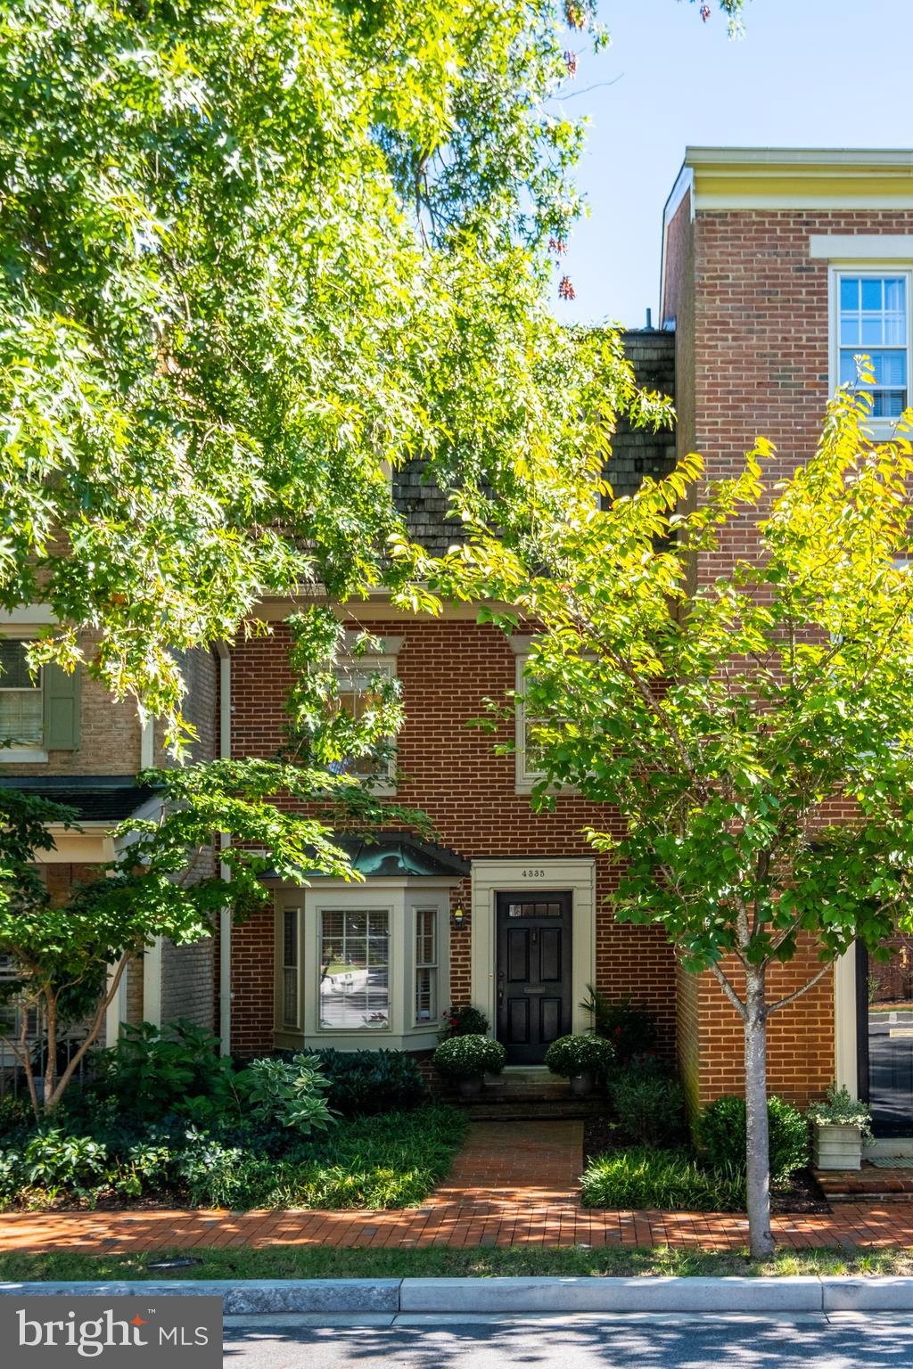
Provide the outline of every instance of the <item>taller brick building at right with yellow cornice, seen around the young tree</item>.
<path id="1" fill-rule="evenodd" d="M 661 318 L 676 338 L 680 455 L 701 452 L 712 476 L 731 475 L 764 435 L 777 449 L 768 476 L 790 475 L 814 449 L 828 396 L 853 378 L 854 352 L 876 363 L 875 431 L 890 435 L 909 396 L 912 172 L 905 151 L 686 152 L 665 205 L 661 282 Z M 751 537 L 747 522 L 732 524 L 695 567 L 698 579 L 712 580 Z M 772 993 L 808 969 L 777 971 Z M 883 1127 L 909 1132 L 913 995 L 908 980 L 905 998 L 887 993 L 894 1017 L 869 1013 L 869 997 L 886 998 L 875 969 L 866 976 L 864 953 L 851 953 L 771 1019 L 771 1087 L 802 1102 L 836 1077 L 871 1098 Z M 678 1019 L 690 1097 L 738 1090 L 739 1023 L 709 977 L 679 972 Z"/>

